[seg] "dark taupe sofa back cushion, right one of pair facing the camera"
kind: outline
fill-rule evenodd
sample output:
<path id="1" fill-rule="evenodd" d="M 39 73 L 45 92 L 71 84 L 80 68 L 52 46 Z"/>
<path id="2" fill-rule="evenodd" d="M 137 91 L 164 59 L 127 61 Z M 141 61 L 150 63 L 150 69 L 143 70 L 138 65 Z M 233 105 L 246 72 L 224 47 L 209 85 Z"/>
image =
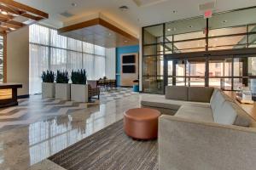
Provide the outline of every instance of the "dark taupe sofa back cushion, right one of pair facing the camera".
<path id="1" fill-rule="evenodd" d="M 195 102 L 210 103 L 214 88 L 189 87 L 188 100 Z"/>

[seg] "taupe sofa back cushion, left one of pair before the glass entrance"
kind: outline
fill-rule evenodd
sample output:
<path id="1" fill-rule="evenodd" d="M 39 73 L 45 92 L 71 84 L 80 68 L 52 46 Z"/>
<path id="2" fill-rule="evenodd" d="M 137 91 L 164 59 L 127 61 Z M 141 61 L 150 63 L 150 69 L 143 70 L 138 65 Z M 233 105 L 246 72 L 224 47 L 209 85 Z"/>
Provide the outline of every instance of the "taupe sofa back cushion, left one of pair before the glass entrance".
<path id="1" fill-rule="evenodd" d="M 166 99 L 188 100 L 188 87 L 166 86 Z"/>

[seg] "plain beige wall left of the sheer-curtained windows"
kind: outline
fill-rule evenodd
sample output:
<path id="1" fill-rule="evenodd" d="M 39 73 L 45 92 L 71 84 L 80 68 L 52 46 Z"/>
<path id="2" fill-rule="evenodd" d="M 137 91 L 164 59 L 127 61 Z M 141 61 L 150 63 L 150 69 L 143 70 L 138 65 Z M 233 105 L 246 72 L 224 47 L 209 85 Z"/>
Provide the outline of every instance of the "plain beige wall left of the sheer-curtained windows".
<path id="1" fill-rule="evenodd" d="M 22 83 L 18 95 L 29 94 L 29 27 L 10 32 L 7 35 L 7 77 L 6 82 Z"/>

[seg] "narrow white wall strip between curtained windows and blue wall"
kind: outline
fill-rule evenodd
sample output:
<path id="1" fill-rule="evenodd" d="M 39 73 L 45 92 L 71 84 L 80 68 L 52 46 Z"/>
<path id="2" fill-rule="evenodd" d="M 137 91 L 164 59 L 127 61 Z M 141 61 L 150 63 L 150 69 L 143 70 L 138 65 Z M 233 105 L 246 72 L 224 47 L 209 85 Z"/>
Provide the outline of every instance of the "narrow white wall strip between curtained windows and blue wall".
<path id="1" fill-rule="evenodd" d="M 105 76 L 109 79 L 115 79 L 115 52 L 115 48 L 106 48 Z"/>

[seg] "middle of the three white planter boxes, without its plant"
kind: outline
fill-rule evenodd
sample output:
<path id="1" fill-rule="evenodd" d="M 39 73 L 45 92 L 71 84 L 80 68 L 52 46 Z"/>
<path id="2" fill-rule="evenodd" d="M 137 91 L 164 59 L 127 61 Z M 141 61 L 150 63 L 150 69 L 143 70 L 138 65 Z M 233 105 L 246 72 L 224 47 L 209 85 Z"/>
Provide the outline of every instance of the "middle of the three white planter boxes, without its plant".
<path id="1" fill-rule="evenodd" d="M 55 99 L 70 100 L 69 83 L 55 83 Z"/>

